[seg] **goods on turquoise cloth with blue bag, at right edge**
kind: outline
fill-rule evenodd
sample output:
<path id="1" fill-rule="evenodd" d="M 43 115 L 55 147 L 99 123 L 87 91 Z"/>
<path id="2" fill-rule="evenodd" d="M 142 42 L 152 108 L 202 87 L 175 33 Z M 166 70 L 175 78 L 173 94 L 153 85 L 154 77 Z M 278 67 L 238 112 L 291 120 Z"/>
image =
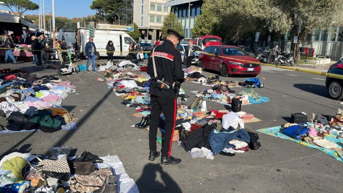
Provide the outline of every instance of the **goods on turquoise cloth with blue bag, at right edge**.
<path id="1" fill-rule="evenodd" d="M 302 117 L 305 119 L 296 121 L 296 123 L 287 123 L 257 131 L 319 149 L 343 162 L 342 110 L 339 109 L 335 117 L 321 118 L 313 114 L 310 122 L 307 122 L 307 116 L 303 115 Z"/>

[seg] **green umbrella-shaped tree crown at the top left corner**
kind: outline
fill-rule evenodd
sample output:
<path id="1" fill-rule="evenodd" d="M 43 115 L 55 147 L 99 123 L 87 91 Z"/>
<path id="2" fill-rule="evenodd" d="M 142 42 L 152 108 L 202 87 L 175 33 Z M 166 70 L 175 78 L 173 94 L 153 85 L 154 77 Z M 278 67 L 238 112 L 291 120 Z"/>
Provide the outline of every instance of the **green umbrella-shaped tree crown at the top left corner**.
<path id="1" fill-rule="evenodd" d="M 37 10 L 39 9 L 39 5 L 31 2 L 30 0 L 2 0 L 5 5 L 12 11 L 13 9 L 16 10 L 16 12 L 19 14 L 19 16 L 22 16 L 25 11 L 27 10 Z"/>

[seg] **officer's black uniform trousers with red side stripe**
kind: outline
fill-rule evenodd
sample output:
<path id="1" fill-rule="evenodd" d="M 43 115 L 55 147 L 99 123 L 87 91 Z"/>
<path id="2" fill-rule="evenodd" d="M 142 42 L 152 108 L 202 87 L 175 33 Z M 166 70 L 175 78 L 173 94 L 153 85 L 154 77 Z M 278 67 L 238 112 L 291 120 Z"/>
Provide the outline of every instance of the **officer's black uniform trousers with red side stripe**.
<path id="1" fill-rule="evenodd" d="M 162 91 L 161 91 L 162 92 Z M 150 96 L 151 104 L 151 122 L 149 128 L 149 148 L 150 151 L 157 151 L 156 137 L 157 127 L 160 122 L 161 112 L 165 117 L 165 134 L 164 144 L 162 145 L 162 157 L 170 157 L 172 150 L 172 137 L 174 134 L 176 121 L 176 98 L 162 98 L 158 96 Z"/>

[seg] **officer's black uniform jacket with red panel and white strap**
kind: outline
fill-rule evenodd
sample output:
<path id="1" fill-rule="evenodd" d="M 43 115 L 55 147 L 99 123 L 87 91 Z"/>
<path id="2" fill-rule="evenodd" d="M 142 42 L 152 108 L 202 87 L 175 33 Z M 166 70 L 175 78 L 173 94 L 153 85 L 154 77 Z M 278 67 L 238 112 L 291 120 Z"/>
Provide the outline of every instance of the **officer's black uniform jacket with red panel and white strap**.
<path id="1" fill-rule="evenodd" d="M 164 77 L 164 81 L 169 82 L 170 86 L 172 86 L 174 81 L 184 81 L 180 52 L 176 50 L 170 40 L 166 40 L 162 45 L 157 46 L 155 51 L 148 58 L 147 74 L 149 74 L 151 78 L 154 78 L 152 55 L 154 55 L 155 58 L 157 79 L 162 80 L 162 77 Z M 176 97 L 176 92 L 173 89 L 170 89 L 165 93 L 159 88 L 154 87 L 154 81 L 150 84 L 149 94 L 163 98 Z"/>

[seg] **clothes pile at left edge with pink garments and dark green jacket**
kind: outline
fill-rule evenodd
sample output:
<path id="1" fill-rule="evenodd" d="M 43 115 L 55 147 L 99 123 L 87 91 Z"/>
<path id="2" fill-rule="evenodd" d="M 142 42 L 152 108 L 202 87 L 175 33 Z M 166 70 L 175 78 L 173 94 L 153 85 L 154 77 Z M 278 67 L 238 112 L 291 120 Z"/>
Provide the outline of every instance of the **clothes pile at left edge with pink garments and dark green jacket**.
<path id="1" fill-rule="evenodd" d="M 61 104 L 75 92 L 69 81 L 25 71 L 0 70 L 0 133 L 39 129 L 55 132 L 76 124 Z"/>

